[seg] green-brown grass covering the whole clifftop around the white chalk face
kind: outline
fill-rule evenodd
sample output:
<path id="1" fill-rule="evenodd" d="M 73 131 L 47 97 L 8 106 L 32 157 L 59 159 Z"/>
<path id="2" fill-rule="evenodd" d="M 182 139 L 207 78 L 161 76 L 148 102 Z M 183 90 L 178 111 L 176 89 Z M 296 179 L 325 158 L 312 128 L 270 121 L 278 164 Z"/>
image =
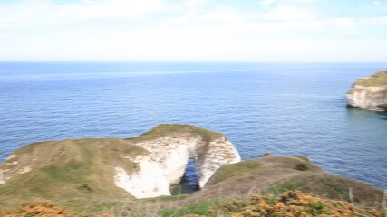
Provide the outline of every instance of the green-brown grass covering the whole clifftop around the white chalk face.
<path id="1" fill-rule="evenodd" d="M 0 216 L 381 216 L 372 209 L 355 208 L 381 211 L 381 189 L 331 175 L 305 156 L 266 155 L 224 165 L 191 195 L 136 200 L 115 186 L 111 168 L 121 165 L 136 171 L 138 165 L 127 156 L 148 153 L 137 142 L 181 135 L 200 136 L 204 141 L 222 137 L 190 125 L 160 125 L 131 139 L 66 139 L 24 146 L 0 165 L 16 174 L 15 169 L 32 167 L 0 184 Z M 291 193 L 284 194 L 287 191 Z M 252 194 L 256 195 L 247 199 Z M 28 203 L 40 200 L 60 206 Z M 21 203 L 22 208 L 16 209 Z"/>

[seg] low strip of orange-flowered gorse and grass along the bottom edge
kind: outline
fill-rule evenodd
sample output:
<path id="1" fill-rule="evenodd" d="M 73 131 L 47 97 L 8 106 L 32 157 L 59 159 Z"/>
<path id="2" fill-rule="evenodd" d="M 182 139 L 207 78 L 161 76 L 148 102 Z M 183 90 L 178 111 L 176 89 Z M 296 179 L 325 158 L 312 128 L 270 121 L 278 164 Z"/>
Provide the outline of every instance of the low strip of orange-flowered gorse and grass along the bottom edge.
<path id="1" fill-rule="evenodd" d="M 71 212 L 68 209 L 47 202 L 24 203 L 19 209 L 5 211 L 0 209 L 1 216 L 7 217 L 71 217 L 95 216 L 114 217 L 108 212 L 88 214 Z M 214 200 L 190 204 L 185 207 L 163 209 L 158 212 L 125 212 L 124 216 L 152 217 L 382 217 L 382 212 L 370 207 L 355 206 L 351 203 L 316 197 L 310 193 L 288 191 L 280 195 L 252 194 L 249 197 L 235 197 L 228 202 Z"/>

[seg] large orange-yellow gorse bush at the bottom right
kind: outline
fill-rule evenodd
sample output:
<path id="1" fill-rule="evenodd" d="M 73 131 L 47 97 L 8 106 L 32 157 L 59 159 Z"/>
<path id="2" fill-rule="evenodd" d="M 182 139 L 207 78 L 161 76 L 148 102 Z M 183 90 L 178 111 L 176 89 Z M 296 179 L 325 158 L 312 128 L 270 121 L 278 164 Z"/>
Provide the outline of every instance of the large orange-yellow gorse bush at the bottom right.
<path id="1" fill-rule="evenodd" d="M 312 194 L 291 191 L 279 197 L 252 195 L 248 202 L 234 201 L 221 208 L 231 217 L 382 217 L 373 208 L 362 209 L 343 201 L 325 200 Z"/>

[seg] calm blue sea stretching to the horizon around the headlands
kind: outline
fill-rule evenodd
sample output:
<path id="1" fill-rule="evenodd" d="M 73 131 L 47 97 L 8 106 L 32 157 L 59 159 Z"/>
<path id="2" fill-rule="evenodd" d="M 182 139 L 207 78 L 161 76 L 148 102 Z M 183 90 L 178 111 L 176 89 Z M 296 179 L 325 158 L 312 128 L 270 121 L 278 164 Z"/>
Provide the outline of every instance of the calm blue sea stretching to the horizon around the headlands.
<path id="1" fill-rule="evenodd" d="M 309 156 L 387 188 L 387 115 L 347 109 L 387 63 L 0 62 L 0 161 L 26 144 L 135 137 L 160 123 L 224 133 L 243 159 Z"/>

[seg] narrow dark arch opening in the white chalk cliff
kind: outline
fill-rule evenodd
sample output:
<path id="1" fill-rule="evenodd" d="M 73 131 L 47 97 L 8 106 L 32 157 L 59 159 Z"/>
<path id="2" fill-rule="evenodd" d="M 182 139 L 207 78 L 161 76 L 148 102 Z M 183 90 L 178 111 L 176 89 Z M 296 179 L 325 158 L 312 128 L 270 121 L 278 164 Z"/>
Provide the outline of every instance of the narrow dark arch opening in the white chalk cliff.
<path id="1" fill-rule="evenodd" d="M 186 172 L 180 183 L 173 186 L 170 190 L 172 195 L 179 194 L 191 194 L 198 192 L 198 176 L 196 174 L 196 163 L 195 159 L 189 158 L 189 164 L 187 165 Z"/>

